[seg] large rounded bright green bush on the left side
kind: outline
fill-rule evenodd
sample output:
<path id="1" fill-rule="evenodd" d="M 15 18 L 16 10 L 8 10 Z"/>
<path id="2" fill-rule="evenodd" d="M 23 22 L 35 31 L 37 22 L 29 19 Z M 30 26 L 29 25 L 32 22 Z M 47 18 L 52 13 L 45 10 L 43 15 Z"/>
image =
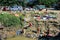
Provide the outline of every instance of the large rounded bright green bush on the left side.
<path id="1" fill-rule="evenodd" d="M 20 24 L 20 19 L 11 14 L 0 14 L 0 22 L 5 27 L 18 26 Z"/>

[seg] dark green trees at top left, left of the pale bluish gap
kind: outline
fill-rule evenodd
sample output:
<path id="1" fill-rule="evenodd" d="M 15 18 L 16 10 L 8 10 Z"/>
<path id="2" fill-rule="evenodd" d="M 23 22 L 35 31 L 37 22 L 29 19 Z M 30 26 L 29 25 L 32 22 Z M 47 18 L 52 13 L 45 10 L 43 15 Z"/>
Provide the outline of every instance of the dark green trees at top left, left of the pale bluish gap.
<path id="1" fill-rule="evenodd" d="M 13 6 L 13 5 L 22 5 L 25 6 L 25 0 L 19 1 L 19 0 L 0 0 L 1 6 Z"/>

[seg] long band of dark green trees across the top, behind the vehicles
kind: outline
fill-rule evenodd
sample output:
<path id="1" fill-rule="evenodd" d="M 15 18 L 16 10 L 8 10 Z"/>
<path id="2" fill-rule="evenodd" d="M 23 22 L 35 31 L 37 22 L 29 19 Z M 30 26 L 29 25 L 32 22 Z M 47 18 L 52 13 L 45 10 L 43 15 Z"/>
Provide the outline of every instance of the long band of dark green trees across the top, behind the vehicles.
<path id="1" fill-rule="evenodd" d="M 26 0 L 0 0 L 0 5 L 1 6 L 12 6 L 12 5 L 22 5 L 24 7 L 28 6 L 28 5 L 37 5 L 37 4 L 45 4 L 47 6 L 50 6 L 56 2 L 58 2 L 59 0 L 36 0 L 34 2 L 27 2 Z"/>

